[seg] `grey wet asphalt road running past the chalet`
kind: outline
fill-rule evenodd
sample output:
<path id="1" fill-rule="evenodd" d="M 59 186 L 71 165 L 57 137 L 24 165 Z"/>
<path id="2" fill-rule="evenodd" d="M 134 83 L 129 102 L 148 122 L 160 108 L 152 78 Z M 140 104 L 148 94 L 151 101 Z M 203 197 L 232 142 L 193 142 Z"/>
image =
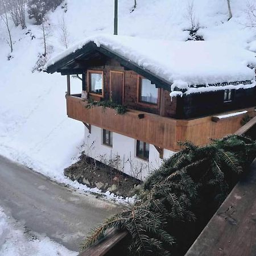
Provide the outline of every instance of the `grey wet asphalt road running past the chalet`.
<path id="1" fill-rule="evenodd" d="M 88 231 L 117 205 L 80 194 L 0 156 L 0 206 L 28 230 L 79 250 Z"/>

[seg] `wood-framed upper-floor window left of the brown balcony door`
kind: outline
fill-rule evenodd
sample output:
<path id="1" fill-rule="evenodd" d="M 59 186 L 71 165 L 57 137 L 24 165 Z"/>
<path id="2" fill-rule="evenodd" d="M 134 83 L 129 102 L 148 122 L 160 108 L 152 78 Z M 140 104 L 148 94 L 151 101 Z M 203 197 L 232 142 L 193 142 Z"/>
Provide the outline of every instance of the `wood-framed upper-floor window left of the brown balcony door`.
<path id="1" fill-rule="evenodd" d="M 103 72 L 88 71 L 89 92 L 103 94 Z"/>

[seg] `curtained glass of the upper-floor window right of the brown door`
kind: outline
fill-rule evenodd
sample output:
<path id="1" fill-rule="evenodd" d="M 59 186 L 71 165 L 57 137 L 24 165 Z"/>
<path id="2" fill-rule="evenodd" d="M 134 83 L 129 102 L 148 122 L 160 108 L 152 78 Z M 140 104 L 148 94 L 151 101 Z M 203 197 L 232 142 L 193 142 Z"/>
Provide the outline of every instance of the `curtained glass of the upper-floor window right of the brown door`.
<path id="1" fill-rule="evenodd" d="M 154 84 L 151 84 L 150 80 L 141 80 L 141 101 L 152 104 L 158 103 L 158 89 L 155 88 Z"/>

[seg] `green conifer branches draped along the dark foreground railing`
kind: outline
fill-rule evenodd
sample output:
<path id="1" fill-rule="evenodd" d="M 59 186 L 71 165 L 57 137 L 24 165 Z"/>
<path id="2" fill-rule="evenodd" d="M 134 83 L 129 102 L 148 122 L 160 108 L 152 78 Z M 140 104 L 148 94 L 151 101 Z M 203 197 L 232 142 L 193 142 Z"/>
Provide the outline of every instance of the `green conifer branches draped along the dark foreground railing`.
<path id="1" fill-rule="evenodd" d="M 82 249 L 117 228 L 129 233 L 131 255 L 185 254 L 255 158 L 256 143 L 231 135 L 181 146 L 148 177 L 137 202 L 92 230 Z"/>

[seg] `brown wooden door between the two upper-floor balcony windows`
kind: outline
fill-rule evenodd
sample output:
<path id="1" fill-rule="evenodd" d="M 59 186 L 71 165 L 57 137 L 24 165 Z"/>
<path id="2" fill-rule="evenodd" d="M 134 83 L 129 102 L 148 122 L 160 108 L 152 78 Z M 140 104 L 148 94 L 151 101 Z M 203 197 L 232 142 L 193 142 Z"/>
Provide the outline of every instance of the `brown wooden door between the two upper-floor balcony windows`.
<path id="1" fill-rule="evenodd" d="M 110 99 L 116 104 L 123 104 L 123 72 L 110 71 Z"/>

